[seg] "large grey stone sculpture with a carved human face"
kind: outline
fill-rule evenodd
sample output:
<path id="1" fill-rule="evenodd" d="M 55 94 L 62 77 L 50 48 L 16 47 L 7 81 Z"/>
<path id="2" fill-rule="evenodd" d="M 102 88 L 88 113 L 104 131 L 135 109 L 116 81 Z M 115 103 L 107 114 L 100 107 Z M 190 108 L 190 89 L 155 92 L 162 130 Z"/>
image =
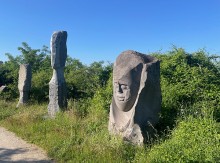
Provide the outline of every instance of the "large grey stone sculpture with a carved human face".
<path id="1" fill-rule="evenodd" d="M 122 52 L 113 67 L 110 133 L 140 145 L 158 122 L 160 109 L 159 60 L 131 50 Z"/>

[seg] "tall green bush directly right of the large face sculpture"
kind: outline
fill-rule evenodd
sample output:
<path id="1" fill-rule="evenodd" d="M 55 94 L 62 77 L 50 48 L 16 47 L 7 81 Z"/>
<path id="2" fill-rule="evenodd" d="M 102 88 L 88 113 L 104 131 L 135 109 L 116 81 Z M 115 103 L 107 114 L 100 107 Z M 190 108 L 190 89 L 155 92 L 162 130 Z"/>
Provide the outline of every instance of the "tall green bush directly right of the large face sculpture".
<path id="1" fill-rule="evenodd" d="M 193 54 L 173 49 L 168 54 L 154 54 L 161 60 L 162 112 L 159 129 L 174 127 L 181 116 L 204 114 L 203 104 L 220 112 L 220 73 L 204 51 Z"/>

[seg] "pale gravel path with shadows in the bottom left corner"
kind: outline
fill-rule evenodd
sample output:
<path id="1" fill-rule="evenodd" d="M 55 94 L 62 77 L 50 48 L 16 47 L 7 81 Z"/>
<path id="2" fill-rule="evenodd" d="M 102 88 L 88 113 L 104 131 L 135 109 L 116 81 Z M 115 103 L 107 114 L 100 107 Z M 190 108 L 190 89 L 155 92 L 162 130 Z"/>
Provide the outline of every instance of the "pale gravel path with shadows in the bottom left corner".
<path id="1" fill-rule="evenodd" d="M 29 144 L 0 127 L 0 162 L 52 163 L 53 161 L 36 145 Z"/>

